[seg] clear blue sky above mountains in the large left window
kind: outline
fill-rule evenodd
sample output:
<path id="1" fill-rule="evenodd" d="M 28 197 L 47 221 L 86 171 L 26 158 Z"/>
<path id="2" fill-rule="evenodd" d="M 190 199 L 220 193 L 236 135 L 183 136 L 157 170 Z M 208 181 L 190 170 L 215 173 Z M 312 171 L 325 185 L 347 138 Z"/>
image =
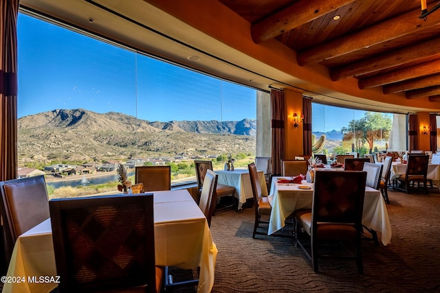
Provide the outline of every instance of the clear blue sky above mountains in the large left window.
<path id="1" fill-rule="evenodd" d="M 18 117 L 54 109 L 149 121 L 256 118 L 256 91 L 19 14 Z M 221 110 L 222 109 L 222 110 Z"/>

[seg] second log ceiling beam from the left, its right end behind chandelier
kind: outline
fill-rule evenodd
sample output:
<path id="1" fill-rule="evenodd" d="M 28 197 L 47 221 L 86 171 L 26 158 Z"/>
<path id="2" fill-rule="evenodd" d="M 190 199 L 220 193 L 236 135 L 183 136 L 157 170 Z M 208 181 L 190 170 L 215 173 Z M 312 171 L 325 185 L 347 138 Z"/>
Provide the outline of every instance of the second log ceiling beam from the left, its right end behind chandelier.
<path id="1" fill-rule="evenodd" d="M 298 65 L 304 66 L 336 58 L 353 51 L 384 43 L 406 34 L 425 30 L 440 23 L 440 13 L 432 14 L 429 21 L 423 21 L 417 16 L 420 10 L 412 10 L 393 19 L 388 19 L 377 25 L 366 27 L 364 30 L 336 38 L 322 45 L 301 51 L 296 56 Z"/>

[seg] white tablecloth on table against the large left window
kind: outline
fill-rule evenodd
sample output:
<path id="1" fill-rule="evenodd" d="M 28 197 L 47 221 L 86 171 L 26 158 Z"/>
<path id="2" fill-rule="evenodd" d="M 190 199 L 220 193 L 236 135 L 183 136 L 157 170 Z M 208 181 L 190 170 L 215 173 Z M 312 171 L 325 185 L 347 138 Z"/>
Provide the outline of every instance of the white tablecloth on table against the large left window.
<path id="1" fill-rule="evenodd" d="M 248 169 L 234 169 L 234 171 L 215 171 L 219 175 L 218 183 L 235 187 L 234 196 L 239 199 L 239 209 L 248 198 L 252 198 L 252 186 Z M 267 196 L 266 180 L 263 171 L 258 172 L 261 193 Z"/>

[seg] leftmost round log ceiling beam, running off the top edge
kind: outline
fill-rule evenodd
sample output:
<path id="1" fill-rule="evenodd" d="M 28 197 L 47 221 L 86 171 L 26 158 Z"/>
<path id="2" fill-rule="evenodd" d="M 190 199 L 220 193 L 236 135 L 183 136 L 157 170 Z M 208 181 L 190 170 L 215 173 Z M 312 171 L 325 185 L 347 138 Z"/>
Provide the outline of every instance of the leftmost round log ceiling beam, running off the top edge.
<path id="1" fill-rule="evenodd" d="M 251 28 L 252 39 L 258 44 L 264 40 L 293 30 L 304 23 L 313 21 L 333 10 L 347 5 L 355 0 L 308 0 L 298 1 L 288 8 L 281 10 L 271 16 L 254 23 Z"/>

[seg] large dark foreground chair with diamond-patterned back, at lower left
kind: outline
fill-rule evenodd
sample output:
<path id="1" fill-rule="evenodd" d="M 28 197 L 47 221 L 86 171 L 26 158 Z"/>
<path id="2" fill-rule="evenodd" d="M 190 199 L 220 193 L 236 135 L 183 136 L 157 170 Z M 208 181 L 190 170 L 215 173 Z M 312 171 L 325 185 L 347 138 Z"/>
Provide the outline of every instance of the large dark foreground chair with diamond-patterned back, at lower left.
<path id="1" fill-rule="evenodd" d="M 160 292 L 164 268 L 155 266 L 153 194 L 49 205 L 59 292 Z"/>

